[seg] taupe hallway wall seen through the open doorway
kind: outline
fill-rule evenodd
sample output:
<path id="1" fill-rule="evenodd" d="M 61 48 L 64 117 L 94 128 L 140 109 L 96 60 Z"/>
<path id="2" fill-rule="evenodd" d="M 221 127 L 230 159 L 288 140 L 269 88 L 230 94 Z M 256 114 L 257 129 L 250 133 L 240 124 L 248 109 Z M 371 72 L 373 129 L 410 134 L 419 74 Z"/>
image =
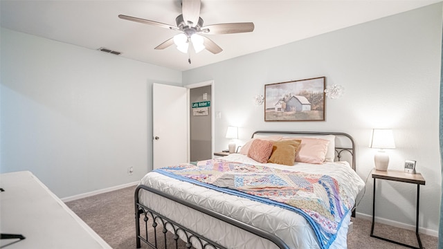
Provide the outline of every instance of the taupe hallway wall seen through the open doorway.
<path id="1" fill-rule="evenodd" d="M 190 89 L 190 103 L 201 102 L 203 94 L 208 93 L 211 100 L 211 86 L 201 86 Z M 213 104 L 213 103 L 212 103 Z M 208 115 L 193 116 L 190 108 L 190 160 L 206 160 L 212 158 L 212 116 L 213 107 L 208 107 Z"/>

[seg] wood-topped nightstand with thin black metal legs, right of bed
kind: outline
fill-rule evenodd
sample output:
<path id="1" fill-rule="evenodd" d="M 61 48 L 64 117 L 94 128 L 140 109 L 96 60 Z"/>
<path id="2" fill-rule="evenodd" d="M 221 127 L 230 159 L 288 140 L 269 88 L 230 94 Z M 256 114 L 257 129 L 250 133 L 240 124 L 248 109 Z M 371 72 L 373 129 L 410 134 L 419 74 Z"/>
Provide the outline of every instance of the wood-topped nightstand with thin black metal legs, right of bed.
<path id="1" fill-rule="evenodd" d="M 425 185 L 426 181 L 424 181 L 424 178 L 422 174 L 410 174 L 405 173 L 399 170 L 388 170 L 386 172 L 379 171 L 376 169 L 372 170 L 372 178 L 374 178 L 374 194 L 372 195 L 372 228 L 371 228 L 371 237 L 377 238 L 377 239 L 383 239 L 384 241 L 388 241 L 391 243 L 396 243 L 400 246 L 406 246 L 408 248 L 417 248 L 415 246 L 409 246 L 404 243 L 400 243 L 397 241 L 392 241 L 390 239 L 385 239 L 382 237 L 379 237 L 377 235 L 374 235 L 374 219 L 375 219 L 375 180 L 377 179 L 383 179 L 388 181 L 397 181 L 402 183 L 413 183 L 417 185 L 417 214 L 415 216 L 415 234 L 417 235 L 417 241 L 419 247 L 417 249 L 423 249 L 422 241 L 420 240 L 420 235 L 418 234 L 418 214 L 419 214 L 419 203 L 420 203 L 420 185 Z"/>

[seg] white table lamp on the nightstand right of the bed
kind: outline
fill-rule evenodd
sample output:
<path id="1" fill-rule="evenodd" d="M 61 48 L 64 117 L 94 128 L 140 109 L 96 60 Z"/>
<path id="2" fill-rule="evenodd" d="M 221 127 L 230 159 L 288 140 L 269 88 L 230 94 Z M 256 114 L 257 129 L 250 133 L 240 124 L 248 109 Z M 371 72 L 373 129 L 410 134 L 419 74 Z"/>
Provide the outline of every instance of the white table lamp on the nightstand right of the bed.
<path id="1" fill-rule="evenodd" d="M 380 149 L 374 156 L 375 169 L 388 170 L 389 155 L 384 149 L 395 149 L 392 129 L 373 129 L 369 147 Z"/>

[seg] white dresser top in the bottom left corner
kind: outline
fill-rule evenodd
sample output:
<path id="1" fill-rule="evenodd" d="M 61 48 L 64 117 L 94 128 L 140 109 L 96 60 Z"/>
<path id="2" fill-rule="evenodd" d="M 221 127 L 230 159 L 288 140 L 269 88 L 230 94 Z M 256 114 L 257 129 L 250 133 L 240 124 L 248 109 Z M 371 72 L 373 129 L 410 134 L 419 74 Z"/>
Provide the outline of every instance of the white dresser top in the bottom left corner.
<path id="1" fill-rule="evenodd" d="M 0 248 L 111 248 L 31 172 L 0 174 Z"/>

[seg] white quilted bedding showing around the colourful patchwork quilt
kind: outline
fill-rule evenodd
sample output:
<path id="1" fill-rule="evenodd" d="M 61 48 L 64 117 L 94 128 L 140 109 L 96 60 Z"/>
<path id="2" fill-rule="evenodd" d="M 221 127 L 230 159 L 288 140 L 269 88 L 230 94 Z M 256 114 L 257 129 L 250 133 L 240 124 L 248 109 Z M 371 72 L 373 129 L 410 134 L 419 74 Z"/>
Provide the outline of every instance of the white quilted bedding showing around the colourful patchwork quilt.
<path id="1" fill-rule="evenodd" d="M 262 165 L 242 154 L 230 154 L 222 158 L 239 163 Z M 325 163 L 310 165 L 296 163 L 292 167 L 267 163 L 266 166 L 279 169 L 289 169 L 312 174 L 328 174 L 336 178 L 338 183 L 347 183 L 347 192 L 354 199 L 364 187 L 364 182 L 351 169 L 347 162 Z M 206 187 L 182 182 L 163 174 L 150 172 L 141 180 L 141 184 L 186 199 L 198 205 L 215 210 L 221 214 L 233 217 L 244 223 L 276 234 L 290 248 L 320 248 L 314 230 L 307 220 L 290 210 L 266 205 L 239 196 L 224 194 Z M 156 212 L 167 216 L 173 221 L 194 230 L 202 236 L 212 239 L 227 248 L 277 248 L 271 241 L 259 238 L 254 234 L 236 228 L 233 225 L 219 221 L 206 214 L 185 207 L 179 203 L 167 200 L 150 192 L 141 192 L 141 203 Z M 347 228 L 350 214 L 345 217 L 338 235 L 330 248 L 347 248 Z"/>

